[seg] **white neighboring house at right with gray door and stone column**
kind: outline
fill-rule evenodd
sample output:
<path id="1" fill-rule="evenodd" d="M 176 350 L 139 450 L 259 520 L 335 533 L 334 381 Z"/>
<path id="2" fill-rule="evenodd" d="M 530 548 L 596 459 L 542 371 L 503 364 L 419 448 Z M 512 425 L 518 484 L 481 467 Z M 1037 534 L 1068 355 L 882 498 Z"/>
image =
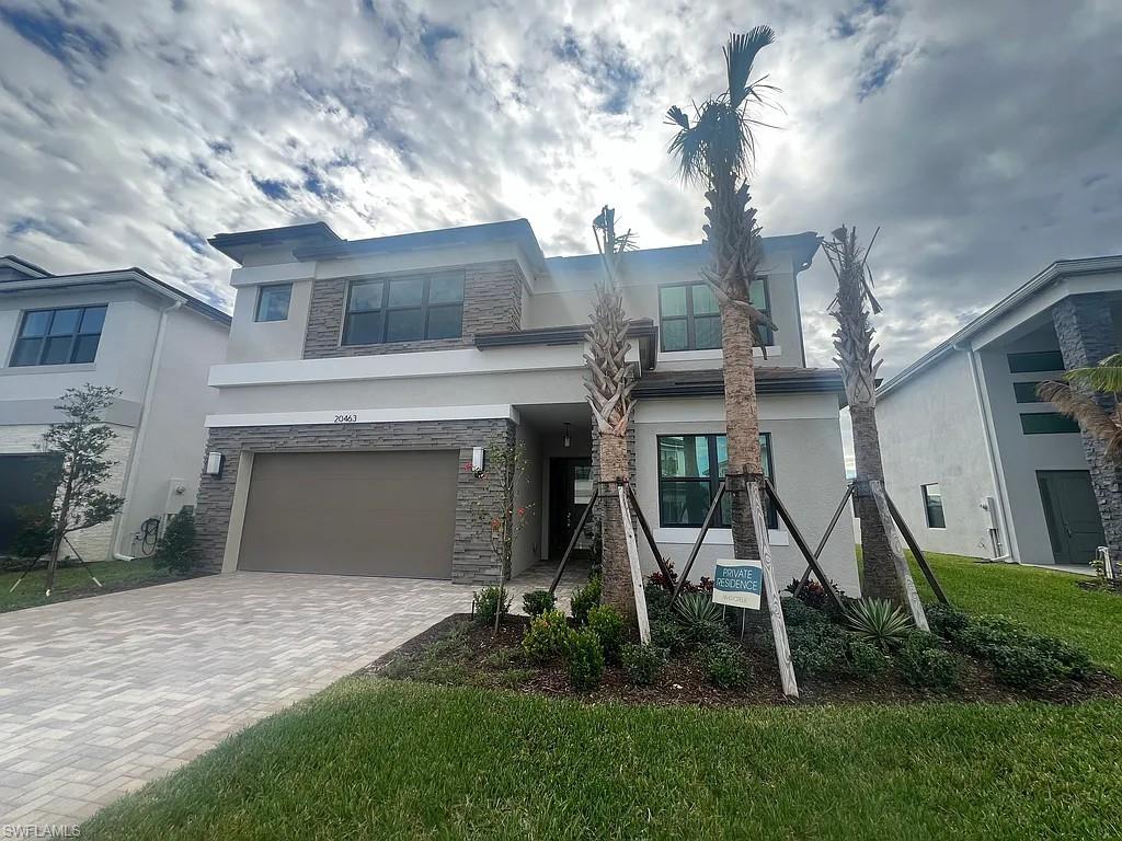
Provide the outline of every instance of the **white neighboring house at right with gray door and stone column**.
<path id="1" fill-rule="evenodd" d="M 1122 257 L 1060 260 L 881 386 L 885 483 L 925 548 L 1028 564 L 1122 551 L 1119 469 L 1036 395 L 1120 335 Z"/>

